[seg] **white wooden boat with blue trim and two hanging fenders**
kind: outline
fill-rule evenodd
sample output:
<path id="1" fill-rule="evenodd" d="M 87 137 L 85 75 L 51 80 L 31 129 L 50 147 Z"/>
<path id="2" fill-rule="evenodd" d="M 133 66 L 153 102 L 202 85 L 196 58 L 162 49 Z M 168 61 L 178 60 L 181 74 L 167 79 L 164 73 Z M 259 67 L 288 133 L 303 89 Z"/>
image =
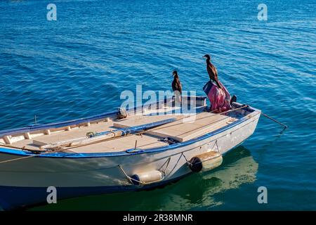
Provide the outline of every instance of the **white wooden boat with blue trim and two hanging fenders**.
<path id="1" fill-rule="evenodd" d="M 209 112 L 204 97 L 174 98 L 79 120 L 0 131 L 0 205 L 4 210 L 57 198 L 164 186 L 220 166 L 223 155 L 254 133 L 261 110 L 233 103 Z M 176 112 L 176 113 L 175 113 Z M 193 119 L 192 119 L 193 118 Z"/>

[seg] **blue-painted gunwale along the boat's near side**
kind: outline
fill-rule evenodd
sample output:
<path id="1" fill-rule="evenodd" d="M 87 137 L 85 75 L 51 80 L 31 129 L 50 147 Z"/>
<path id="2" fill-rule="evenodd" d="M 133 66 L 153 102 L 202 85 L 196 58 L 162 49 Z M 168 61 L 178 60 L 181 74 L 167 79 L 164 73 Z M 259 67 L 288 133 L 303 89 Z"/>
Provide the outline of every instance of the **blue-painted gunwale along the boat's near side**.
<path id="1" fill-rule="evenodd" d="M 242 106 L 242 104 L 240 104 L 240 103 L 234 103 L 234 104 L 237 106 Z M 141 105 L 140 107 L 143 107 L 143 105 Z M 136 109 L 136 108 L 134 108 L 134 109 Z M 37 155 L 37 154 L 32 153 L 32 152 L 27 151 L 27 150 L 25 150 L 25 151 L 15 150 L 13 148 L 0 148 L 0 153 L 5 153 L 8 155 L 22 155 L 22 156 L 34 155 L 35 158 L 65 158 L 65 159 L 70 159 L 70 158 L 73 158 L 73 159 L 105 158 L 105 157 L 116 157 L 116 156 L 126 156 L 126 155 L 139 155 L 139 154 L 145 154 L 145 153 L 159 153 L 159 152 L 163 152 L 166 150 L 173 150 L 175 148 L 181 148 L 184 146 L 188 146 L 190 144 L 197 143 L 198 141 L 203 141 L 204 139 L 208 139 L 211 136 L 215 136 L 216 134 L 220 134 L 223 131 L 231 129 L 232 127 L 236 127 L 237 125 L 242 124 L 243 122 L 246 122 L 247 120 L 251 120 L 251 118 L 253 118 L 256 115 L 261 113 L 261 110 L 258 110 L 256 108 L 252 108 L 251 106 L 249 106 L 247 108 L 243 108 L 243 110 L 251 111 L 251 113 L 248 115 L 245 115 L 244 117 L 240 118 L 239 120 L 236 120 L 235 122 L 232 122 L 231 124 L 228 124 L 224 127 L 221 127 L 220 129 L 216 129 L 215 131 L 211 131 L 209 133 L 206 133 L 206 134 L 199 136 L 195 139 L 190 139 L 188 141 L 174 143 L 171 146 L 161 146 L 161 147 L 156 147 L 156 148 L 148 148 L 146 150 L 134 152 L 134 153 L 127 153 L 126 150 L 124 150 L 124 151 L 115 151 L 115 152 L 106 152 L 106 153 L 48 153 L 45 155 L 40 155 L 40 154 Z M 249 117 L 249 115 L 251 115 L 253 113 L 254 113 L 254 115 Z"/>

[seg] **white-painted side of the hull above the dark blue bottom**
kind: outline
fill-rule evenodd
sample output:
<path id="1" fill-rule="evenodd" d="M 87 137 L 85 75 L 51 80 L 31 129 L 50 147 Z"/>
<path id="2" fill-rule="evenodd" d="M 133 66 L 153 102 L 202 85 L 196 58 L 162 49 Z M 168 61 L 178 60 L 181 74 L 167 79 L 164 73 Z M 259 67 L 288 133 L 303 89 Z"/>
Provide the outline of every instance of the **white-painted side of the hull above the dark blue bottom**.
<path id="1" fill-rule="evenodd" d="M 254 133 L 259 117 L 260 112 L 254 111 L 246 115 L 248 120 L 244 120 L 230 129 L 207 139 L 192 142 L 189 145 L 180 144 L 178 148 L 176 148 L 177 144 L 174 144 L 174 148 L 171 145 L 171 149 L 164 151 L 102 158 L 29 158 L 0 164 L 0 186 L 96 187 L 131 185 L 118 165 L 121 165 L 130 176 L 162 167 L 162 170 L 165 169 L 166 172 L 164 180 L 176 179 L 190 172 L 185 158 L 190 160 L 195 155 L 210 150 L 226 153 Z M 0 161 L 11 158 L 17 158 L 17 155 L 0 153 Z M 166 163 L 169 158 L 170 162 Z"/>

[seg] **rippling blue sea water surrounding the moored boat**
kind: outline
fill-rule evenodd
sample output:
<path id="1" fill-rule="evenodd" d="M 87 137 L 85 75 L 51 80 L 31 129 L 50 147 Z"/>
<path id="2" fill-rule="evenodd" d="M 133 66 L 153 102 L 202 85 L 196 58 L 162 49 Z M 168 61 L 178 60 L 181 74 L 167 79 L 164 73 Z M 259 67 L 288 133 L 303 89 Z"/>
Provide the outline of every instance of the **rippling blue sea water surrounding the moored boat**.
<path id="1" fill-rule="evenodd" d="M 261 117 L 215 172 L 34 210 L 316 210 L 315 28 L 315 0 L 0 1 L 0 129 L 104 113 L 137 84 L 171 89 L 174 69 L 204 95 L 206 53 L 239 102 L 289 126 Z"/>

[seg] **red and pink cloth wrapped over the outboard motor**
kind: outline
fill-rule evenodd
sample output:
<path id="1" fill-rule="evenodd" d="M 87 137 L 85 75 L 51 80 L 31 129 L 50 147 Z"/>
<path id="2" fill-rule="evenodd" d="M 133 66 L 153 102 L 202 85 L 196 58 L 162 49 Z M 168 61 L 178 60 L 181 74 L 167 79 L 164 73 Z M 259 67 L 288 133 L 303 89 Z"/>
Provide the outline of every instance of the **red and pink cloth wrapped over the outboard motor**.
<path id="1" fill-rule="evenodd" d="M 221 89 L 211 81 L 207 82 L 203 87 L 204 92 L 211 102 L 211 110 L 214 113 L 222 113 L 231 109 L 230 93 L 220 81 L 218 82 L 222 87 Z"/>

